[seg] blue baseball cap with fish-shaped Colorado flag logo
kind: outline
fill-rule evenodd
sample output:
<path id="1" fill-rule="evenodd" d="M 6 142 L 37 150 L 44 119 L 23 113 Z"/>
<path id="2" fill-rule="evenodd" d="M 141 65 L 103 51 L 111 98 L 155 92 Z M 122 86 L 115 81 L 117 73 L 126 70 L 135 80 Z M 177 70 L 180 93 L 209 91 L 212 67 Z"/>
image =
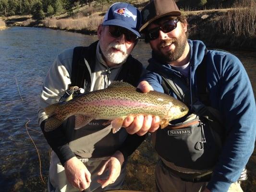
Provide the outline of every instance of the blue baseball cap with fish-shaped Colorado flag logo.
<path id="1" fill-rule="evenodd" d="M 117 25 L 126 28 L 140 37 L 140 11 L 128 3 L 114 3 L 106 12 L 102 25 Z"/>

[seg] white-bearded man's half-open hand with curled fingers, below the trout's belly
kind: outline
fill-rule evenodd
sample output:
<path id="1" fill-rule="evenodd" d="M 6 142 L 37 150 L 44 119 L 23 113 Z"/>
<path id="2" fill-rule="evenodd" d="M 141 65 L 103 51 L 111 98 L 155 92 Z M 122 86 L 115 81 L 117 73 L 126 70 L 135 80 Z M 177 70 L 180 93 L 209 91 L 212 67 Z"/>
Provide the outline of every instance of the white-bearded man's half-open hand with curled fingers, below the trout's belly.
<path id="1" fill-rule="evenodd" d="M 98 175 L 102 175 L 102 173 L 109 169 L 109 177 L 106 180 L 97 180 L 97 182 L 101 184 L 102 188 L 114 183 L 119 177 L 123 161 L 124 157 L 122 153 L 120 151 L 116 151 L 115 154 L 104 163 L 98 172 Z"/>

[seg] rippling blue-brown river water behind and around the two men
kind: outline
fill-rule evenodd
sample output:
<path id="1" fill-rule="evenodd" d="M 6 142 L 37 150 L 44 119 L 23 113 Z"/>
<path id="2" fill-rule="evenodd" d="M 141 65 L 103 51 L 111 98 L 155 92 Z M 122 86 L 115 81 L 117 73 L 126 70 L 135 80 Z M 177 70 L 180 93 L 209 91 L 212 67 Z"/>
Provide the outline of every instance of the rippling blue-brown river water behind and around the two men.
<path id="1" fill-rule="evenodd" d="M 0 191 L 45 192 L 49 145 L 37 124 L 37 98 L 49 66 L 65 48 L 87 46 L 97 36 L 44 28 L 11 27 L 0 31 Z M 230 51 L 230 50 L 229 50 Z M 256 51 L 230 51 L 242 62 L 256 91 Z M 133 56 L 143 63 L 150 48 L 140 41 Z M 131 156 L 126 189 L 154 191 L 151 144 L 145 141 Z M 247 169 L 245 192 L 256 183 L 256 152 Z"/>

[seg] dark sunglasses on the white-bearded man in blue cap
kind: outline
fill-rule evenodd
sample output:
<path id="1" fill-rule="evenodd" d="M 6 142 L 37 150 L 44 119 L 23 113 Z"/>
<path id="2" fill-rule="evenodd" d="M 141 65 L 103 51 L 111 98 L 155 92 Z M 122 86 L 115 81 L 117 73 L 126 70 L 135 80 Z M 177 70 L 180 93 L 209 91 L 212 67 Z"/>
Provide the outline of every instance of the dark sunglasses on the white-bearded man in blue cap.
<path id="1" fill-rule="evenodd" d="M 115 26 L 115 25 L 109 25 L 109 33 L 110 36 L 118 38 L 124 35 L 124 39 L 128 43 L 135 43 L 137 39 L 139 38 L 136 36 L 133 32 L 129 31 L 128 29 L 125 29 L 120 26 Z"/>

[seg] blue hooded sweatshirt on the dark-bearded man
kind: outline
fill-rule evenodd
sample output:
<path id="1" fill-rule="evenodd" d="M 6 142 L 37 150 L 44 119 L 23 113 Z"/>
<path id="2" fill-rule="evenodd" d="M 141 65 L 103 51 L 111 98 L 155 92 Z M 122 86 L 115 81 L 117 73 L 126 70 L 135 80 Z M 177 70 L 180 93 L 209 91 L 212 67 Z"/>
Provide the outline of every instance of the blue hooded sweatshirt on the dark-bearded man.
<path id="1" fill-rule="evenodd" d="M 201 41 L 188 40 L 188 43 L 190 90 L 196 94 L 195 70 L 204 58 L 206 46 Z M 149 73 L 143 80 L 155 91 L 164 92 L 157 72 L 182 76 L 168 63 L 159 61 L 154 53 L 148 62 Z M 208 50 L 206 63 L 210 105 L 219 110 L 225 128 L 225 141 L 207 188 L 211 192 L 227 192 L 231 183 L 238 180 L 254 150 L 256 104 L 249 77 L 238 58 L 228 52 Z M 177 98 L 173 92 L 170 95 Z"/>

